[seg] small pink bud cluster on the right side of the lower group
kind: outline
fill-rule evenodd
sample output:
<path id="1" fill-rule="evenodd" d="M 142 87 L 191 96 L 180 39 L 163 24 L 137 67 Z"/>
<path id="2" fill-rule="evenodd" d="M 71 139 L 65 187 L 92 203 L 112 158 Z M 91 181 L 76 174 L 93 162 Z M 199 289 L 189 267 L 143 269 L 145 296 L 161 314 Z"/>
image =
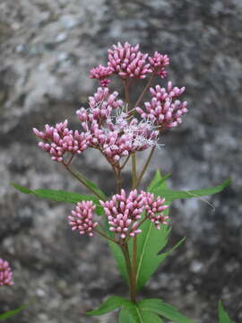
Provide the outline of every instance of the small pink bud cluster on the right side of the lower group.
<path id="1" fill-rule="evenodd" d="M 146 214 L 151 220 L 151 223 L 154 223 L 156 229 L 160 230 L 160 223 L 168 224 L 167 220 L 169 216 L 163 215 L 162 211 L 169 208 L 169 205 L 164 205 L 165 198 L 158 196 L 155 199 L 154 195 L 148 192 L 142 192 L 142 194 L 145 200 L 144 209 L 146 210 Z"/>

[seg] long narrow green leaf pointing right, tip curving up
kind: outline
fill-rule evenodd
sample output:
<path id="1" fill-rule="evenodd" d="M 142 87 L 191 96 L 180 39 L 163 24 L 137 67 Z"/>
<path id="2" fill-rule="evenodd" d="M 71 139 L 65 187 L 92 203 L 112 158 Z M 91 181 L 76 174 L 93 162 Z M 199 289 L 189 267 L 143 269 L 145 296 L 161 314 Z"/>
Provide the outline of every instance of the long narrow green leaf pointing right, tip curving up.
<path id="1" fill-rule="evenodd" d="M 176 191 L 169 188 L 156 188 L 153 193 L 155 196 L 165 197 L 167 202 L 174 201 L 180 198 L 191 198 L 200 196 L 211 196 L 216 193 L 220 193 L 224 188 L 229 186 L 230 179 L 225 180 L 220 185 L 213 188 L 194 189 L 189 191 Z"/>

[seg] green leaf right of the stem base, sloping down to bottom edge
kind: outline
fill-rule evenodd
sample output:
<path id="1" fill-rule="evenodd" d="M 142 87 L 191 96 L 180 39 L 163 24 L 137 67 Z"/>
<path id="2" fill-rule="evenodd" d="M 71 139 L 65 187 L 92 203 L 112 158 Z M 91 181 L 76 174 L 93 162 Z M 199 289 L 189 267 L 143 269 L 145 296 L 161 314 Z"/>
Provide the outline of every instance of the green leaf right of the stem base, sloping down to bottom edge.
<path id="1" fill-rule="evenodd" d="M 142 310 L 149 310 L 175 323 L 193 323 L 191 319 L 179 313 L 176 308 L 159 299 L 139 301 L 138 306 Z"/>

